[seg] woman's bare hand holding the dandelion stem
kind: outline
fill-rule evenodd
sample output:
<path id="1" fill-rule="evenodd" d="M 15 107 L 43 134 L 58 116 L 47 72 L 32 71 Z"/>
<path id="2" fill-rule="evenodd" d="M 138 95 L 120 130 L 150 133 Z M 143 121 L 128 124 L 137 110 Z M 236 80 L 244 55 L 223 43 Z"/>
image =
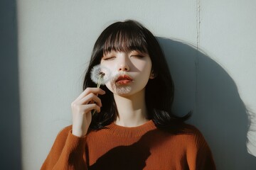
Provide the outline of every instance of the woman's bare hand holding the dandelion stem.
<path id="1" fill-rule="evenodd" d="M 92 110 L 100 112 L 102 103 L 98 94 L 105 94 L 100 88 L 87 88 L 71 103 L 73 114 L 72 134 L 78 137 L 86 135 L 92 121 Z"/>

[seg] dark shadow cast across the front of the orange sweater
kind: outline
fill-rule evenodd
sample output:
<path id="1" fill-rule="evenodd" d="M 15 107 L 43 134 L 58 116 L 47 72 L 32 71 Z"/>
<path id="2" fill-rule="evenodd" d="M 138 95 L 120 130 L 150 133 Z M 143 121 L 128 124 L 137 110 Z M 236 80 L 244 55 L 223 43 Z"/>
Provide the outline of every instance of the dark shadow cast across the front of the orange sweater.
<path id="1" fill-rule="evenodd" d="M 146 166 L 146 159 L 151 155 L 149 148 L 161 145 L 165 140 L 158 130 L 151 130 L 132 145 L 110 149 L 89 169 L 142 170 Z"/>

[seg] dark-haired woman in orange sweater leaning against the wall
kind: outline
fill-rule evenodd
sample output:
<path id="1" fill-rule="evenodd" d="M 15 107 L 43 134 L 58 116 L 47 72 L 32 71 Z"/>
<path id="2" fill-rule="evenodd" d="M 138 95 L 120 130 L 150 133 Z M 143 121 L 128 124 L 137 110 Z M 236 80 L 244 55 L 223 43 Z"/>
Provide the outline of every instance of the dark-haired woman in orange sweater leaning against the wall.
<path id="1" fill-rule="evenodd" d="M 110 72 L 96 88 L 92 69 Z M 107 75 L 105 75 L 107 76 Z M 41 169 L 215 169 L 201 132 L 171 112 L 174 83 L 158 41 L 137 21 L 113 23 L 95 42 L 73 125 Z M 95 113 L 97 111 L 97 113 Z"/>

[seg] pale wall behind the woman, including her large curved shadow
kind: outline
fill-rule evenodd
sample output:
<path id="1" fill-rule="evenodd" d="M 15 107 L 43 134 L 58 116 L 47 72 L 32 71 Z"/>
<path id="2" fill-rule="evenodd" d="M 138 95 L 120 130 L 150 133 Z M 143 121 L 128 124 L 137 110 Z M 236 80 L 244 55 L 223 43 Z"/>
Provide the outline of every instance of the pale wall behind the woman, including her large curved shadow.
<path id="1" fill-rule="evenodd" d="M 218 169 L 256 167 L 256 147 L 250 145 L 252 154 L 246 151 L 247 116 L 256 114 L 256 1 L 19 0 L 17 5 L 23 169 L 39 169 L 57 133 L 70 125 L 70 103 L 82 92 L 97 36 L 127 18 L 159 37 L 176 84 L 174 110 L 193 109 L 190 123 L 203 132 Z M 255 132 L 248 135 L 256 145 Z"/>

